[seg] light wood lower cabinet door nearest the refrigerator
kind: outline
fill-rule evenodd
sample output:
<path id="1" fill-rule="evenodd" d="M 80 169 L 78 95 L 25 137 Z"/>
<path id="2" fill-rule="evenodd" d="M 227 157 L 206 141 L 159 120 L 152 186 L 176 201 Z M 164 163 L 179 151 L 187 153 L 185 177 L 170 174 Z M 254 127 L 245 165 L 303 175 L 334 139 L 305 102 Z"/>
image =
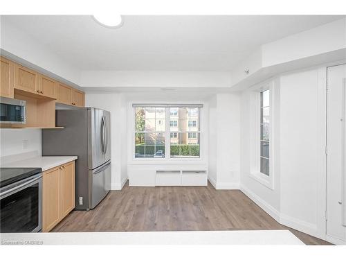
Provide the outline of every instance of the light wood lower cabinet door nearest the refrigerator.
<path id="1" fill-rule="evenodd" d="M 75 208 L 75 162 L 62 166 L 62 218 Z"/>

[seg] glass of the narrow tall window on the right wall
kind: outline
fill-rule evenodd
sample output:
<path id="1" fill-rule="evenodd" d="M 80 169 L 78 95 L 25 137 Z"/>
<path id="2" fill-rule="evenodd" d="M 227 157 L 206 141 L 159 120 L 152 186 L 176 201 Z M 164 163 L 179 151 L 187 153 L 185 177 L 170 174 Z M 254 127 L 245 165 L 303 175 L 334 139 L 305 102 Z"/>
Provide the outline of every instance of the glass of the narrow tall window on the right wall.
<path id="1" fill-rule="evenodd" d="M 261 163 L 260 171 L 261 173 L 269 176 L 269 146 L 270 146 L 270 91 L 265 90 L 261 92 Z"/>

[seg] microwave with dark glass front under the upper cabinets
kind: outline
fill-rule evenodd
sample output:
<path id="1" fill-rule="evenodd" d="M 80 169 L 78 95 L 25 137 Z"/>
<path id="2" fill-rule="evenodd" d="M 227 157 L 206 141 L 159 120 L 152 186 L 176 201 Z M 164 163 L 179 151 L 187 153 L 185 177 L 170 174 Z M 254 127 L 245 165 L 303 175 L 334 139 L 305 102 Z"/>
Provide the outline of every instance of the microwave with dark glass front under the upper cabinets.
<path id="1" fill-rule="evenodd" d="M 0 123 L 26 123 L 26 101 L 0 97 Z"/>

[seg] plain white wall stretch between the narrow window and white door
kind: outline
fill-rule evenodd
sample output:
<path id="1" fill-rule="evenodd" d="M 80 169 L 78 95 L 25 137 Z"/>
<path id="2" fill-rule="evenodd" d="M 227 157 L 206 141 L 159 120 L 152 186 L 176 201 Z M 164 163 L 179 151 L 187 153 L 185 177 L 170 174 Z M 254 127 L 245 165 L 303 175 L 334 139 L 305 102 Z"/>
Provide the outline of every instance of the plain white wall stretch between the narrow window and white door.
<path id="1" fill-rule="evenodd" d="M 310 69 L 280 78 L 281 218 L 315 235 L 321 233 L 319 218 L 324 217 L 318 194 L 325 192 L 320 182 L 325 176 L 325 85 L 320 84 L 321 73 Z"/>

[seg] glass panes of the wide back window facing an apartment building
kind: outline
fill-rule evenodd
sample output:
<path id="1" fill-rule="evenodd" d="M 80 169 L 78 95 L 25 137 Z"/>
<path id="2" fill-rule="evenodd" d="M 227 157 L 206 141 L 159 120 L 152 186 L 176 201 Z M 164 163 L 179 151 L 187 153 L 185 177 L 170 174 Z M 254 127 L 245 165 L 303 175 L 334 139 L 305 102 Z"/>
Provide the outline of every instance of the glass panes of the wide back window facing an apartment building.
<path id="1" fill-rule="evenodd" d="M 201 135 L 199 113 L 200 107 L 135 106 L 134 157 L 198 158 Z M 166 124 L 166 120 L 170 123 Z M 165 139 L 167 136 L 170 137 L 169 144 Z"/>

